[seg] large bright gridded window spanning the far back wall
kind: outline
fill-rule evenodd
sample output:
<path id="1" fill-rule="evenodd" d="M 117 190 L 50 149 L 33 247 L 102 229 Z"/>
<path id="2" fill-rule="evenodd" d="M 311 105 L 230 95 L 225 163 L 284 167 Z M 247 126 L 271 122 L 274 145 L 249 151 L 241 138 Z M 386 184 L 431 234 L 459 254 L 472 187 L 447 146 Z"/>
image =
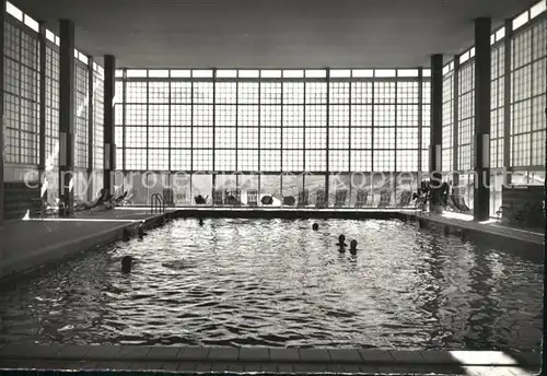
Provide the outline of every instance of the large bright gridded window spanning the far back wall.
<path id="1" fill-rule="evenodd" d="M 418 172 L 428 160 L 429 75 L 417 69 L 120 71 L 117 167 Z"/>

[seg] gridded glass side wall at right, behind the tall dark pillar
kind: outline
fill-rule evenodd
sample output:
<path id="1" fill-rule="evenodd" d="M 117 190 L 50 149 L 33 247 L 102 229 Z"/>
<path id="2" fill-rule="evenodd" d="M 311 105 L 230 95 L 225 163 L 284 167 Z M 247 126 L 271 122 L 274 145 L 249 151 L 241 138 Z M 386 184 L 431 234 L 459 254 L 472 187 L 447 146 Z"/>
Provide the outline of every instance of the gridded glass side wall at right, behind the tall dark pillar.
<path id="1" fill-rule="evenodd" d="M 491 36 L 490 210 L 501 205 L 508 183 L 543 184 L 545 180 L 546 13 L 543 3 L 516 17 Z M 508 39 L 509 38 L 509 39 Z M 508 48 L 509 46 L 509 48 Z M 466 202 L 473 203 L 475 49 L 444 67 L 443 171 L 455 167 Z M 510 62 L 509 64 L 507 62 Z M 454 92 L 454 82 L 457 90 Z M 509 82 L 509 90 L 505 85 Z M 454 94 L 456 93 L 456 94 Z M 457 101 L 454 102 L 454 95 Z M 507 107 L 509 105 L 509 108 Z M 509 109 L 509 110 L 508 110 Z M 457 129 L 453 129 L 453 125 Z M 457 134 L 457 139 L 454 139 Z M 505 156 L 509 156 L 508 158 Z"/>

